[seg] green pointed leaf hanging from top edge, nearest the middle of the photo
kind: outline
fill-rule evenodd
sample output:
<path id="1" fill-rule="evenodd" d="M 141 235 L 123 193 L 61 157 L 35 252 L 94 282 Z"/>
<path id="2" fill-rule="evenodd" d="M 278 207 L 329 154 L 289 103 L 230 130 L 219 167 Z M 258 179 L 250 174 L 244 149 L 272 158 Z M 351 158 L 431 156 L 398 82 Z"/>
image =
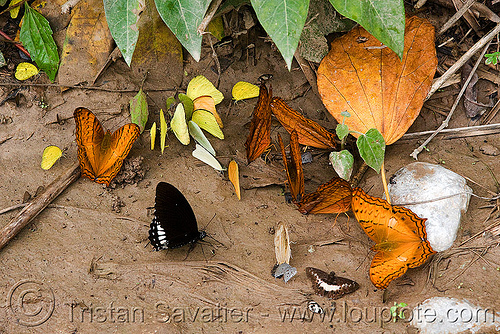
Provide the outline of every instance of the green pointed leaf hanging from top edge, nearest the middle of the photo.
<path id="1" fill-rule="evenodd" d="M 306 22 L 309 0 L 251 0 L 251 3 L 290 70 Z"/>

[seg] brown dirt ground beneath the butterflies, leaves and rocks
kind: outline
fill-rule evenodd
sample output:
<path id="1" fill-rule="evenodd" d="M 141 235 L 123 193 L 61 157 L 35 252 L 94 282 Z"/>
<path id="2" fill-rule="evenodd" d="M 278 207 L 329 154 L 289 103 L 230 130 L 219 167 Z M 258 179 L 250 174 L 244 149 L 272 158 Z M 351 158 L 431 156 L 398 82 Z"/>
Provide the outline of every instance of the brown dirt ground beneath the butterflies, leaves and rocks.
<path id="1" fill-rule="evenodd" d="M 199 63 L 185 57 L 181 90 L 196 75 L 217 81 L 211 54 L 205 45 Z M 257 83 L 262 74 L 273 74 L 274 95 L 329 130 L 336 123 L 309 89 L 296 62 L 289 72 L 279 53 L 260 38 L 255 39 L 255 57 L 240 54 L 220 75 L 219 89 L 225 99 L 218 110 L 226 138 L 210 140 L 222 164 L 227 166 L 231 159 L 240 162 L 245 186 L 241 200 L 225 175 L 192 157 L 193 144 L 183 146 L 170 134 L 161 154 L 159 148 L 150 150 L 145 131 L 128 158 L 136 159 L 131 165 L 140 164 L 135 181 L 105 188 L 78 179 L 1 250 L 0 332 L 405 333 L 413 332 L 408 322 L 390 318 L 389 308 L 395 302 L 414 307 L 427 298 L 445 296 L 500 311 L 498 237 L 483 233 L 458 248 L 498 217 L 496 202 L 472 197 L 455 252 L 434 256 L 392 282 L 385 292 L 377 291 L 368 277 L 372 242 L 352 215 L 302 215 L 285 202 L 285 173 L 276 135 L 286 136 L 286 132 L 277 122 L 273 121 L 274 146 L 267 165 L 262 161 L 256 162 L 258 167 L 247 166 L 244 142 L 256 99 L 232 102 L 231 88 L 237 81 Z M 104 73 L 101 87 L 137 88 L 127 81 L 126 71 L 123 60 L 118 60 Z M 13 79 L 4 76 L 2 80 Z M 47 81 L 39 77 L 32 82 Z M 12 88 L 4 86 L 2 96 Z M 449 110 L 458 89 L 444 91 L 449 94 L 430 102 Z M 19 103 L 8 100 L 0 107 L 0 209 L 22 203 L 26 192 L 34 196 L 40 186 L 46 187 L 75 164 L 72 114 L 76 107 L 89 108 L 105 128 L 115 130 L 129 122 L 126 106 L 135 92 L 70 89 L 61 93 L 53 87 L 27 87 L 20 94 Z M 149 94 L 147 129 L 158 120 L 169 95 Z M 48 108 L 39 103 L 42 97 Z M 444 116 L 432 109 L 424 107 L 409 132 L 437 128 Z M 496 117 L 492 123 L 499 121 Z M 460 106 L 449 127 L 468 125 L 471 122 Z M 497 192 L 494 176 L 500 175 L 500 164 L 498 156 L 480 150 L 486 143 L 498 148 L 500 138 L 438 137 L 419 159 L 443 164 L 477 182 L 469 182 L 474 193 L 491 196 L 485 189 Z M 58 145 L 64 155 L 44 171 L 40 162 L 48 145 Z M 410 153 L 418 145 L 410 140 L 388 147 L 387 174 L 413 162 Z M 336 175 L 327 153 L 313 151 L 314 161 L 304 165 L 307 191 Z M 189 254 L 188 247 L 155 252 L 148 243 L 151 207 L 160 181 L 181 190 L 200 228 L 211 236 Z M 366 172 L 360 186 L 371 195 L 382 195 L 380 178 L 373 171 Z M 0 215 L 0 225 L 18 212 Z M 298 270 L 287 284 L 270 273 L 275 264 L 273 231 L 280 221 L 289 226 L 291 264 Z M 353 279 L 360 289 L 336 301 L 317 296 L 305 274 L 310 266 Z M 327 311 L 324 318 L 307 313 L 310 300 Z"/>

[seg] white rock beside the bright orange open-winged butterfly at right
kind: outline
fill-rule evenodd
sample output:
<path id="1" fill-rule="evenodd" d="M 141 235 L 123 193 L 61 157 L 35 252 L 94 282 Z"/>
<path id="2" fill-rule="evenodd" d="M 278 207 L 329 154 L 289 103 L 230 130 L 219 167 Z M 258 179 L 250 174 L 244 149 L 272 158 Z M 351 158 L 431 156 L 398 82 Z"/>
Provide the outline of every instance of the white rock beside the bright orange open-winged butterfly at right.
<path id="1" fill-rule="evenodd" d="M 472 189 L 462 176 L 426 162 L 414 162 L 401 168 L 389 182 L 392 204 L 402 205 L 420 218 L 427 218 L 427 240 L 437 252 L 450 248 L 455 241 L 471 193 Z"/>

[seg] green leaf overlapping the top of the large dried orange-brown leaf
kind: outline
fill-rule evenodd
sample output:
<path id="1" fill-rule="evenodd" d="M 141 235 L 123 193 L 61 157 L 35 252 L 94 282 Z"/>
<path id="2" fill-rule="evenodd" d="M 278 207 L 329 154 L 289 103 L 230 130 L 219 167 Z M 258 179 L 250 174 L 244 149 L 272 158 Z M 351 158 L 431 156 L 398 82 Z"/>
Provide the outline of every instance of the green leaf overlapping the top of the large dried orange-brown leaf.
<path id="1" fill-rule="evenodd" d="M 403 0 L 330 0 L 345 17 L 358 22 L 380 42 L 403 57 L 405 11 Z"/>

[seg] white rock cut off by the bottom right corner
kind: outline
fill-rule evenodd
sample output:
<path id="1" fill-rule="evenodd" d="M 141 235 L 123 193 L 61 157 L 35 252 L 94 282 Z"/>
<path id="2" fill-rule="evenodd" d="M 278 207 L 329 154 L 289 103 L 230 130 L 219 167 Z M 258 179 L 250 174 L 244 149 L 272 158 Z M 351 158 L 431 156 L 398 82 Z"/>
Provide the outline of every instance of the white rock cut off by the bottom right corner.
<path id="1" fill-rule="evenodd" d="M 420 334 L 456 334 L 467 330 L 484 333 L 500 331 L 500 314 L 467 300 L 433 297 L 412 310 L 410 324 L 417 327 Z"/>

